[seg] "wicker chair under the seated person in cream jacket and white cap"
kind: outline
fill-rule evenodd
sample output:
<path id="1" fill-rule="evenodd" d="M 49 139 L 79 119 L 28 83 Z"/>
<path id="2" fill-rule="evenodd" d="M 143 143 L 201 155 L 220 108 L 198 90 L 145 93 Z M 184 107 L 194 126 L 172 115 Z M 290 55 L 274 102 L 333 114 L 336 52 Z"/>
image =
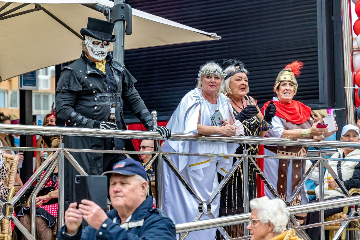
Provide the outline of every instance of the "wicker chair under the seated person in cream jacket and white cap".
<path id="1" fill-rule="evenodd" d="M 360 189 L 356 189 L 356 188 L 352 188 L 349 190 L 350 195 L 352 196 L 353 194 L 360 194 Z M 315 195 L 315 191 L 313 190 L 308 190 L 307 191 L 308 195 Z M 347 212 L 348 212 L 349 207 L 345 206 L 342 210 L 341 213 L 335 213 L 327 218 L 325 218 L 325 222 L 328 221 L 334 221 L 334 220 L 338 220 L 338 219 L 344 219 L 347 218 Z M 335 232 L 339 230 L 339 228 L 341 227 L 342 222 L 339 223 L 334 223 L 334 224 L 330 224 L 330 225 L 326 225 L 324 226 L 325 230 L 330 231 L 330 235 L 329 235 L 329 240 L 333 239 Z M 351 221 L 348 225 L 348 227 L 345 229 L 345 231 L 342 232 L 341 234 L 341 240 L 345 240 L 346 238 L 346 231 L 360 231 L 360 220 L 356 220 L 356 221 Z"/>

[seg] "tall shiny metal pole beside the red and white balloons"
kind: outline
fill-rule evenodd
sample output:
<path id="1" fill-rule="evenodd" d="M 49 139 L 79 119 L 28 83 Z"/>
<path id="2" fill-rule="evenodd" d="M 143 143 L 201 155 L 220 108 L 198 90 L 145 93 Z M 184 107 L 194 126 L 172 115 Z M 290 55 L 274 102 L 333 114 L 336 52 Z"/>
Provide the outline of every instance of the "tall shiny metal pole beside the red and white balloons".
<path id="1" fill-rule="evenodd" d="M 341 18 L 342 18 L 342 44 L 344 56 L 344 74 L 345 74 L 345 99 L 346 99 L 346 122 L 355 125 L 354 115 L 354 69 L 352 67 L 352 24 L 351 24 L 350 0 L 341 0 Z"/>

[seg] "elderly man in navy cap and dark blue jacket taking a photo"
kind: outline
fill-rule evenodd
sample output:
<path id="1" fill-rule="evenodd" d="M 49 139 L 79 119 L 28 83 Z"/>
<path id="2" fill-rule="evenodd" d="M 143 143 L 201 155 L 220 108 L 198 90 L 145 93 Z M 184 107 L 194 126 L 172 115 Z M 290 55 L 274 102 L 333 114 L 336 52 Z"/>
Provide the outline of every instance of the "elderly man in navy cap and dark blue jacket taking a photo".
<path id="1" fill-rule="evenodd" d="M 161 209 L 152 207 L 147 195 L 147 173 L 140 162 L 126 158 L 116 163 L 110 177 L 109 195 L 114 209 L 104 212 L 91 200 L 71 203 L 65 212 L 65 225 L 59 240 L 162 239 L 175 240 L 175 225 Z M 106 196 L 104 196 L 106 199 Z M 84 219 L 89 226 L 82 229 Z"/>

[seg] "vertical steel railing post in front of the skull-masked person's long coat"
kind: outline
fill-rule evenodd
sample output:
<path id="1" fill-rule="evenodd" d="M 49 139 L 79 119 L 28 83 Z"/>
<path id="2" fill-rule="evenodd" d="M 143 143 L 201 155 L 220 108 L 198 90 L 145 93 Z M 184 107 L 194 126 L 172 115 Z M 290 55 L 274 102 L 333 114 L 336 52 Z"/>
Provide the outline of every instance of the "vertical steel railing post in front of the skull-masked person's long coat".
<path id="1" fill-rule="evenodd" d="M 59 152 L 59 177 L 58 177 L 58 189 L 59 189 L 59 209 L 58 209 L 58 223 L 59 226 L 63 226 L 64 223 L 64 143 L 60 136 L 60 142 L 58 148 L 61 148 Z"/>

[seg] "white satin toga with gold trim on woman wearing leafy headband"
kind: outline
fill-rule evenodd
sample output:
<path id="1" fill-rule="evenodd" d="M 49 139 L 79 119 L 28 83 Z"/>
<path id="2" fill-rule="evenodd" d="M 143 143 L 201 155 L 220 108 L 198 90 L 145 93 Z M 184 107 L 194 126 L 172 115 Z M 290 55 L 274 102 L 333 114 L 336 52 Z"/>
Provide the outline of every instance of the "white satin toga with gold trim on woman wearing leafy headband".
<path id="1" fill-rule="evenodd" d="M 172 132 L 186 132 L 197 134 L 199 111 L 201 112 L 199 124 L 213 126 L 210 116 L 219 110 L 226 119 L 233 118 L 229 99 L 220 94 L 217 104 L 211 104 L 201 95 L 201 89 L 188 92 L 180 101 L 179 106 L 172 114 L 168 127 Z M 235 121 L 235 119 L 234 119 Z M 230 122 L 230 121 L 229 121 Z M 184 153 L 215 153 L 234 154 L 238 144 L 221 142 L 189 142 L 166 141 L 162 150 L 164 152 Z M 217 172 L 226 175 L 232 162 L 228 157 L 204 156 L 169 156 L 174 165 L 179 169 L 186 181 L 203 201 L 207 201 L 219 185 Z M 174 223 L 190 222 L 199 213 L 198 203 L 177 179 L 171 169 L 163 162 L 163 208 Z M 211 204 L 211 212 L 215 217 L 219 215 L 220 196 L 218 195 Z M 203 216 L 201 219 L 208 219 Z M 187 239 L 215 239 L 216 228 L 191 232 Z M 179 237 L 179 235 L 177 236 Z"/>

